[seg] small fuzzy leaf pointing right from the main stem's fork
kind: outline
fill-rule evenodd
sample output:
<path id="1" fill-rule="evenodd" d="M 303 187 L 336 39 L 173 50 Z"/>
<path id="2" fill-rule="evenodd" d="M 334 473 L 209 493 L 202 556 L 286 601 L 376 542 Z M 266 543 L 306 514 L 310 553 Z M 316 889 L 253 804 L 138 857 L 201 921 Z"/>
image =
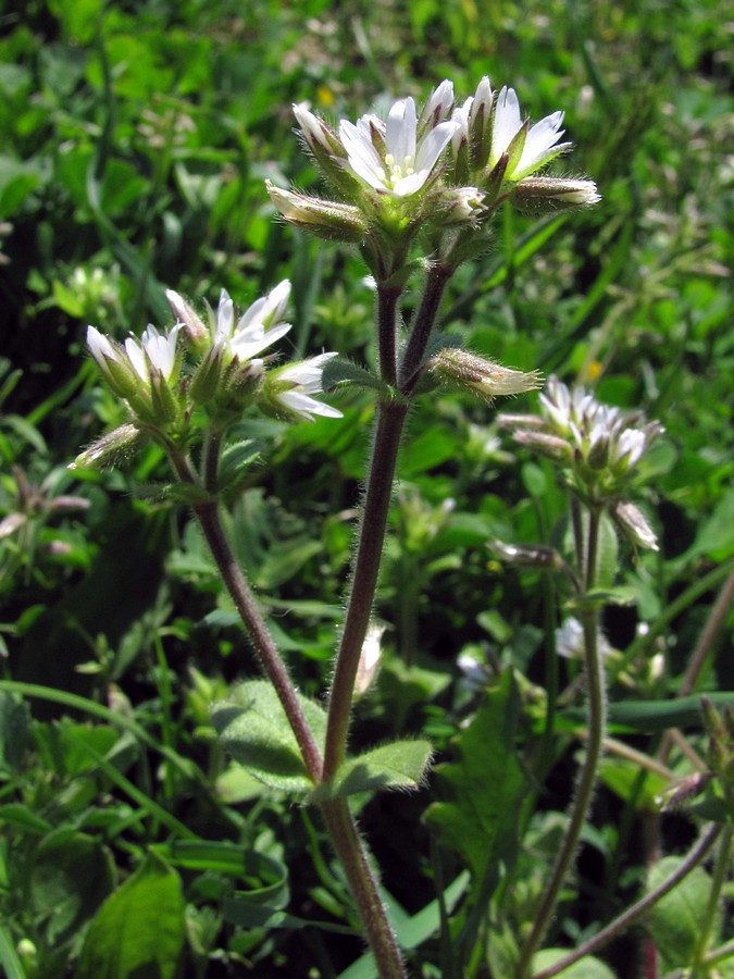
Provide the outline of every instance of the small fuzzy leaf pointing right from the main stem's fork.
<path id="1" fill-rule="evenodd" d="M 383 789 L 418 789 L 426 777 L 433 747 L 427 741 L 394 741 L 348 758 L 328 785 L 311 795 L 314 802 Z"/>

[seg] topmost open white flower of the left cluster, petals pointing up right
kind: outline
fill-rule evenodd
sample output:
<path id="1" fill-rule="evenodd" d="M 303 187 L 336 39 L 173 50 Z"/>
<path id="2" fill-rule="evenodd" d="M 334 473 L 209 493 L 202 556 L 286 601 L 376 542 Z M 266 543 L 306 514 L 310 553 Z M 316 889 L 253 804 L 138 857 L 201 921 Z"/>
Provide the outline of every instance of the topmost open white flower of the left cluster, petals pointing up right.
<path id="1" fill-rule="evenodd" d="M 290 330 L 290 323 L 283 321 L 289 296 L 290 283 L 286 278 L 235 322 L 234 303 L 227 290 L 222 289 L 216 320 L 212 321 L 214 343 L 240 361 L 250 360 Z"/>

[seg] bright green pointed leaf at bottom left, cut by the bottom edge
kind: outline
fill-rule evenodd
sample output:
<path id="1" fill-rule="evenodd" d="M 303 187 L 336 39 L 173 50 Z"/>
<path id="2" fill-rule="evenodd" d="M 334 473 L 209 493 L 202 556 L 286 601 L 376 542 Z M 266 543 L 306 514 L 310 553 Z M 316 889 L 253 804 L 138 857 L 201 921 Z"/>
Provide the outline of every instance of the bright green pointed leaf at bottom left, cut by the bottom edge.
<path id="1" fill-rule="evenodd" d="M 151 854 L 91 922 L 75 979 L 174 979 L 185 927 L 178 875 Z"/>

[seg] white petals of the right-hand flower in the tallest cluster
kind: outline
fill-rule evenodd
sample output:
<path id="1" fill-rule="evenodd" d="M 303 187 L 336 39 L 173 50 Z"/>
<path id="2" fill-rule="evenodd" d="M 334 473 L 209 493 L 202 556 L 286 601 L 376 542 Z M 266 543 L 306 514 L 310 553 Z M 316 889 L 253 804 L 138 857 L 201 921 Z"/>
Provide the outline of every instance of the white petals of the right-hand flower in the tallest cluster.
<path id="1" fill-rule="evenodd" d="M 522 153 L 512 171 L 506 172 L 506 179 L 519 181 L 521 177 L 527 176 L 534 170 L 537 170 L 544 163 L 547 163 L 552 157 L 558 156 L 564 149 L 568 149 L 570 142 L 561 142 L 558 140 L 563 135 L 561 123 L 563 122 L 562 112 L 553 112 L 535 123 L 527 131 Z M 494 166 L 499 158 L 507 152 L 510 144 L 523 128 L 523 121 L 520 115 L 520 102 L 514 88 L 508 88 L 507 85 L 500 90 L 495 106 L 495 113 L 492 127 L 492 151 L 489 156 L 489 165 Z"/>

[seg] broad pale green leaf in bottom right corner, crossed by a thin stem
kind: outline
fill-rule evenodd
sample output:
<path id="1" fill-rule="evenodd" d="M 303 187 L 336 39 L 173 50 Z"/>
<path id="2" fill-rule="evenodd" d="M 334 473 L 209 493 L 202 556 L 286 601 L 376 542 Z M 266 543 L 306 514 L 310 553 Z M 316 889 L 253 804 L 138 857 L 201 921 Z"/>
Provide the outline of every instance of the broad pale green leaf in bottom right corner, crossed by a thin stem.
<path id="1" fill-rule="evenodd" d="M 682 858 L 663 857 L 650 870 L 648 892 L 659 887 L 681 866 Z M 649 912 L 649 929 L 667 968 L 677 969 L 691 965 L 691 958 L 706 921 L 711 878 L 702 867 L 696 867 L 677 887 L 665 894 Z M 712 941 L 719 933 L 717 919 Z"/>

